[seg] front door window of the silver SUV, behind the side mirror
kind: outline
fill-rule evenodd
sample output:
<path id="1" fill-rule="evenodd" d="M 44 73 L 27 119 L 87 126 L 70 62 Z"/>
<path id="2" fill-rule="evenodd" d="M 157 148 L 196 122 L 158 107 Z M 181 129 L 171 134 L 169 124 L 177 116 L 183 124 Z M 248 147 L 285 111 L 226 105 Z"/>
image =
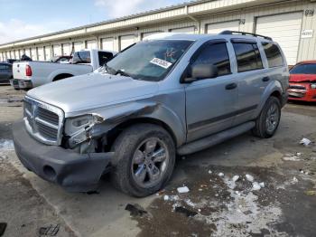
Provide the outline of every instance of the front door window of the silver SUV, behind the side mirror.
<path id="1" fill-rule="evenodd" d="M 203 48 L 193 63 L 213 64 L 218 68 L 218 77 L 231 73 L 226 43 L 212 43 Z"/>

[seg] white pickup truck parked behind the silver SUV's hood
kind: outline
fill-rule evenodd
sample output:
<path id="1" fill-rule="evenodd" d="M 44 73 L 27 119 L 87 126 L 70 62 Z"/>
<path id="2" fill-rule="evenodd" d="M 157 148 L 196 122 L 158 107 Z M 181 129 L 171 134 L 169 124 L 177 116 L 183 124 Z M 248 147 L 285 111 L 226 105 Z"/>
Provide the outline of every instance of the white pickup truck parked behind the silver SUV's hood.
<path id="1" fill-rule="evenodd" d="M 112 59 L 116 52 L 81 50 L 74 52 L 72 62 L 14 62 L 11 85 L 15 90 L 31 89 L 51 81 L 95 71 Z"/>

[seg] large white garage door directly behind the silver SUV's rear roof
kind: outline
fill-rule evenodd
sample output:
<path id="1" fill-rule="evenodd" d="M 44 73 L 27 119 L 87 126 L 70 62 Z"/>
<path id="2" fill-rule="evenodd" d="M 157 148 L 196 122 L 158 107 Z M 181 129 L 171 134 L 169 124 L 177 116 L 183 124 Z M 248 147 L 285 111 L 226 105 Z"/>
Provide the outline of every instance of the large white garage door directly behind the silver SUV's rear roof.
<path id="1" fill-rule="evenodd" d="M 270 36 L 279 43 L 289 65 L 297 61 L 301 27 L 302 13 L 263 16 L 256 21 L 256 33 Z"/>

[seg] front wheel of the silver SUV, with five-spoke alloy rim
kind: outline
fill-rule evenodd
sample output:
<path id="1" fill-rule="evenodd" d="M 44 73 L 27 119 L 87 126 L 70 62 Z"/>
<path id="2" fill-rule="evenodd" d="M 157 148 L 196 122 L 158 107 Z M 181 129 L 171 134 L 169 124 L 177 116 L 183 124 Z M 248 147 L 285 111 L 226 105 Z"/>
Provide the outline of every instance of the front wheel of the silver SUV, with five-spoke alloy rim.
<path id="1" fill-rule="evenodd" d="M 125 130 L 113 145 L 116 156 L 112 183 L 125 194 L 154 194 L 170 180 L 175 146 L 170 134 L 153 124 L 137 124 Z"/>

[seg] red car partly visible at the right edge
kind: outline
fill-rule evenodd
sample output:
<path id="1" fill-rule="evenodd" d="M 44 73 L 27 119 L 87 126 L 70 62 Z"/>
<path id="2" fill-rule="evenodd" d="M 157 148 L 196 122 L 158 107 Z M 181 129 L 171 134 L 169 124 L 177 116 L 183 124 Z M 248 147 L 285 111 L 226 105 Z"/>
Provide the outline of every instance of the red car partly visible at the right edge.
<path id="1" fill-rule="evenodd" d="M 316 102 L 316 61 L 298 62 L 290 71 L 289 100 Z"/>

